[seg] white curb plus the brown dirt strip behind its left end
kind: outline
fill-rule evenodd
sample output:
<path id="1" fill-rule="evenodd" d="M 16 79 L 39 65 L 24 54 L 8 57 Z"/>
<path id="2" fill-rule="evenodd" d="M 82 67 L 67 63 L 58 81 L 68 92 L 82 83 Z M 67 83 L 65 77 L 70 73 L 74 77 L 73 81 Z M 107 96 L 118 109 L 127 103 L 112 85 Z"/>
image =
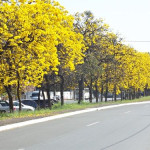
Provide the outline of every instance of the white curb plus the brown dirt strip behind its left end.
<path id="1" fill-rule="evenodd" d="M 128 106 L 128 105 L 138 105 L 138 104 L 150 104 L 150 101 L 145 102 L 135 102 L 135 103 L 125 103 L 125 104 L 118 104 L 118 105 L 110 105 L 110 106 L 103 106 L 97 108 L 87 108 L 84 110 L 78 110 L 73 112 L 67 112 L 62 114 L 57 114 L 54 116 L 47 116 L 47 117 L 26 117 L 26 118 L 14 118 L 14 119 L 7 119 L 0 121 L 0 131 L 5 131 L 13 128 L 23 127 L 27 125 L 32 125 L 40 122 L 50 121 L 54 119 L 59 119 L 63 117 L 73 116 L 81 113 L 92 112 L 92 111 L 99 111 L 104 109 Z"/>

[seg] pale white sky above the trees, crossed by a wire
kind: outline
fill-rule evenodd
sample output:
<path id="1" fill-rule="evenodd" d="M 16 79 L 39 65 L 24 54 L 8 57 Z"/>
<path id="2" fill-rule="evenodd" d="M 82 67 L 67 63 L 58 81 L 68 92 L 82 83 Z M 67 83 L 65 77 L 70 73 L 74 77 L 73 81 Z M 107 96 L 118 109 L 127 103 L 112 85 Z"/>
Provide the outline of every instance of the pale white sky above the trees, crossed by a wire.
<path id="1" fill-rule="evenodd" d="M 150 52 L 150 0 L 56 0 L 70 14 L 90 10 L 140 52 Z"/>

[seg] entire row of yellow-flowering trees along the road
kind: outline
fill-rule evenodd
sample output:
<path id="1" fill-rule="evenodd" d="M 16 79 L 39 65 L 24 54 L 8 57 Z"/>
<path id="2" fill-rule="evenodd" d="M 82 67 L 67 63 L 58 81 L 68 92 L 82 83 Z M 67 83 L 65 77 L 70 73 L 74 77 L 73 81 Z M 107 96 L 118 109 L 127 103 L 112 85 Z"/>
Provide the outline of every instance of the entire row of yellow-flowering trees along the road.
<path id="1" fill-rule="evenodd" d="M 25 86 L 48 93 L 79 87 L 79 103 L 88 87 L 107 98 L 149 87 L 150 55 L 122 44 L 103 20 L 90 11 L 73 17 L 52 0 L 0 1 L 0 91 L 12 94 Z M 136 94 L 135 94 L 136 95 Z M 107 99 L 106 99 L 107 101 Z M 21 110 L 21 101 L 20 101 Z"/>

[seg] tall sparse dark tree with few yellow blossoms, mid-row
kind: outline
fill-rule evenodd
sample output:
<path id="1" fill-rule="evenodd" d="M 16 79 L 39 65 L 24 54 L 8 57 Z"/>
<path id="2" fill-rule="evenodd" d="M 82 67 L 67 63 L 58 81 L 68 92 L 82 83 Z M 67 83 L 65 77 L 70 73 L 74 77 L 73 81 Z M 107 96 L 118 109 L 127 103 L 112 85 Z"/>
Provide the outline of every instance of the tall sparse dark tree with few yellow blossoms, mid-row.
<path id="1" fill-rule="evenodd" d="M 84 81 L 86 81 L 86 84 L 90 89 L 90 102 L 92 102 L 92 86 L 95 76 L 93 75 L 94 68 L 91 67 L 93 65 L 89 62 L 92 62 L 93 56 L 97 53 L 97 50 L 99 49 L 97 41 L 98 39 L 101 39 L 104 33 L 107 31 L 108 25 L 105 24 L 102 19 L 95 19 L 95 17 L 90 11 L 85 11 L 83 13 L 75 14 L 74 26 L 75 31 L 83 35 L 84 44 L 86 47 L 86 50 L 84 51 L 84 64 L 78 67 L 80 68 L 78 70 L 79 103 L 81 100 L 83 100 L 82 91 L 84 88 Z M 97 62 L 95 62 L 95 64 L 98 65 Z M 96 68 L 98 68 L 98 66 L 95 66 L 95 71 Z M 86 78 L 86 80 L 84 80 L 84 78 Z"/>

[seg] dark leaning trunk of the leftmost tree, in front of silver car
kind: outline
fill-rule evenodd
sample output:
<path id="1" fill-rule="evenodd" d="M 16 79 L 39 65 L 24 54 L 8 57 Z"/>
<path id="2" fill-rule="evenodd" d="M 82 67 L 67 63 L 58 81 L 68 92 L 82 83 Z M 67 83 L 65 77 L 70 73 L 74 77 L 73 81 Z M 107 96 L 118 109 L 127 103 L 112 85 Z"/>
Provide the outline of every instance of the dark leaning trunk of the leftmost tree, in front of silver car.
<path id="1" fill-rule="evenodd" d="M 6 92 L 8 94 L 8 98 L 9 98 L 9 109 L 10 109 L 10 113 L 14 112 L 14 108 L 13 108 L 13 97 L 11 94 L 11 86 L 4 86 L 6 89 Z"/>

